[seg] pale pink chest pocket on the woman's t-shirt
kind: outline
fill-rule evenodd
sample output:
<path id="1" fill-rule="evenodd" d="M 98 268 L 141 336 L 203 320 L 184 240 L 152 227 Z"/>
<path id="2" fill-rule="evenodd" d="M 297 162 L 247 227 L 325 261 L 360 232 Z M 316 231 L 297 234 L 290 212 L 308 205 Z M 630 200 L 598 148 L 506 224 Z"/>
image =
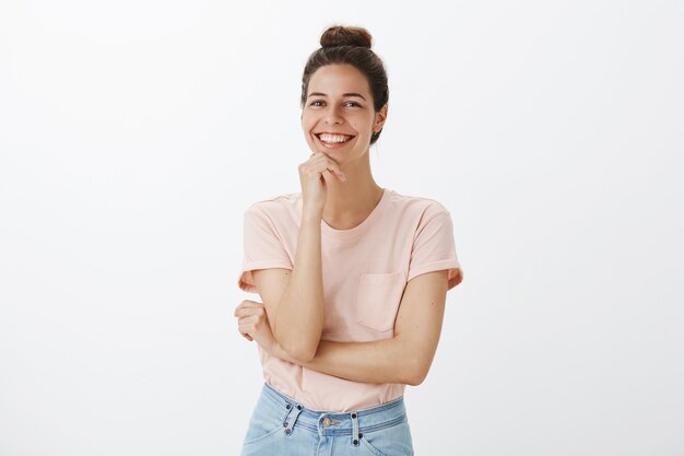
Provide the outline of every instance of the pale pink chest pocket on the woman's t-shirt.
<path id="1" fill-rule="evenodd" d="M 376 331 L 392 329 L 405 285 L 403 271 L 361 274 L 356 323 Z"/>

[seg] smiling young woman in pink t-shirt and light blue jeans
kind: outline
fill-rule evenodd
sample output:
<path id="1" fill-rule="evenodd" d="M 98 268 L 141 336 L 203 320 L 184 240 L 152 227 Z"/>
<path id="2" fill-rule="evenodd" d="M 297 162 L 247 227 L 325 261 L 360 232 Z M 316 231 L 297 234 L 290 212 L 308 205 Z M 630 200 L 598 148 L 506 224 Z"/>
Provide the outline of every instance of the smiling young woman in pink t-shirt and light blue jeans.
<path id="1" fill-rule="evenodd" d="M 264 385 L 243 455 L 412 455 L 403 402 L 462 280 L 449 211 L 376 184 L 387 73 L 365 28 L 332 26 L 306 63 L 302 191 L 245 212 L 238 330 Z"/>

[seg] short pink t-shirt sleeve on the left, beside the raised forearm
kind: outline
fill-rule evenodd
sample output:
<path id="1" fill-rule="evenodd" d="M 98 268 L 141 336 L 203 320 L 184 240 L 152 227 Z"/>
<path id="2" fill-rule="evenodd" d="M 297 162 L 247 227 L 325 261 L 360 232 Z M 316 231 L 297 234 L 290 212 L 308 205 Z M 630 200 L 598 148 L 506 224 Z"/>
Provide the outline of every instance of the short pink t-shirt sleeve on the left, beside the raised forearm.
<path id="1" fill-rule="evenodd" d="M 251 276 L 255 269 L 293 269 L 275 225 L 262 210 L 252 206 L 245 211 L 243 236 L 243 266 L 237 279 L 240 290 L 259 293 Z"/>

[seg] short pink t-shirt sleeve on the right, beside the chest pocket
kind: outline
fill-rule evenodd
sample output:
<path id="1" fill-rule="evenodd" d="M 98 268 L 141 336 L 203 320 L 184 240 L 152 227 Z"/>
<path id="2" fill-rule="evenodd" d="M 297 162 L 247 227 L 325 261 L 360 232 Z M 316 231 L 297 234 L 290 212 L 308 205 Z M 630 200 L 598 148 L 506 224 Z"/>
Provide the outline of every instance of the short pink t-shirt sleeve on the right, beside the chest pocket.
<path id="1" fill-rule="evenodd" d="M 463 280 L 463 271 L 456 256 L 453 223 L 447 210 L 425 215 L 421 220 L 413 241 L 406 281 L 443 269 L 448 270 L 447 290 Z"/>

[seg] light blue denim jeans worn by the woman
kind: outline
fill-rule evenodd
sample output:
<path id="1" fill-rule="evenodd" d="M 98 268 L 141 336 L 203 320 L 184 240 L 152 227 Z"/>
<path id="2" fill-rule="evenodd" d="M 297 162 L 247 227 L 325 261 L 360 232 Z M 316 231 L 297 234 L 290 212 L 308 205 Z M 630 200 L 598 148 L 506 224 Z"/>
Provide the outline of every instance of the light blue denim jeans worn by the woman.
<path id="1" fill-rule="evenodd" d="M 347 412 L 307 409 L 263 384 L 241 456 L 412 456 L 403 396 Z"/>

